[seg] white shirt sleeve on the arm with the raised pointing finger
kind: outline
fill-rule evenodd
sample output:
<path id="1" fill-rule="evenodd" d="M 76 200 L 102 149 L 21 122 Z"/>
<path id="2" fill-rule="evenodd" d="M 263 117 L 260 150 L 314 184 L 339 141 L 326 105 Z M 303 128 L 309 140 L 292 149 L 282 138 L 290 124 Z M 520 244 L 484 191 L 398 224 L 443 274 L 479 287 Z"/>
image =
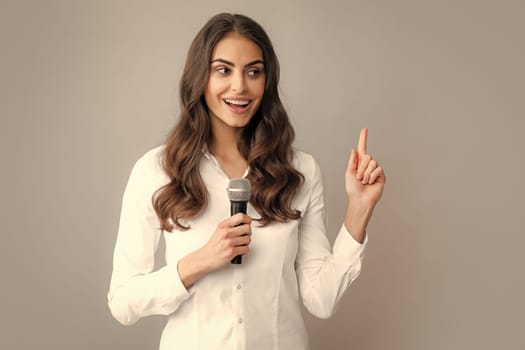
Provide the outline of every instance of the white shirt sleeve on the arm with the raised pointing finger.
<path id="1" fill-rule="evenodd" d="M 359 276 L 364 259 L 364 242 L 357 242 L 341 226 L 333 250 L 326 235 L 326 209 L 320 167 L 312 158 L 310 200 L 299 223 L 296 271 L 299 289 L 307 310 L 328 318 L 350 284 Z M 306 184 L 306 183 L 305 183 Z"/>

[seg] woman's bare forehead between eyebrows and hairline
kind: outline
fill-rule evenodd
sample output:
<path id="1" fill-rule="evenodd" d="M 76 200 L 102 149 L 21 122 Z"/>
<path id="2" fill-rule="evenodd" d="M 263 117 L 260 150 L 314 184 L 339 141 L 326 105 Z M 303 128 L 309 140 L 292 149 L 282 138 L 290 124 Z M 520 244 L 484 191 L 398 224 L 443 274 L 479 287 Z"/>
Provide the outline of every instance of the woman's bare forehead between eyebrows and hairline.
<path id="1" fill-rule="evenodd" d="M 211 59 L 222 58 L 233 63 L 262 60 L 262 50 L 256 43 L 233 32 L 226 34 L 213 48 Z"/>

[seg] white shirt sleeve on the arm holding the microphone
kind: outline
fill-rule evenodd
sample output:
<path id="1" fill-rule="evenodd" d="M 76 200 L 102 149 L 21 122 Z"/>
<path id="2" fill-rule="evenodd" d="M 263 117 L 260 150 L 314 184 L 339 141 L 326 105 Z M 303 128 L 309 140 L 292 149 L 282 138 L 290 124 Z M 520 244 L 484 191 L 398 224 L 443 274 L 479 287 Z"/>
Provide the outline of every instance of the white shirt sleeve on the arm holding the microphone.
<path id="1" fill-rule="evenodd" d="M 169 315 L 192 295 L 182 284 L 176 265 L 153 271 L 162 234 L 151 204 L 159 177 L 155 169 L 151 157 L 139 159 L 122 198 L 107 298 L 113 317 L 124 325 L 149 315 Z"/>

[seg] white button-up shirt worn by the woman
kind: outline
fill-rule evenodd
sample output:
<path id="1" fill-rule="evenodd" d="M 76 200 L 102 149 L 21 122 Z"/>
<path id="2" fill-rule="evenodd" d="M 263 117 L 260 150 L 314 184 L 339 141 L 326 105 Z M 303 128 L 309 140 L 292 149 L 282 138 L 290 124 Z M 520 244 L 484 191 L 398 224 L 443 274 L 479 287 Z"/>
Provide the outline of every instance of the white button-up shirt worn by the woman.
<path id="1" fill-rule="evenodd" d="M 295 151 L 293 164 L 305 177 L 292 202 L 302 213 L 299 220 L 265 227 L 253 221 L 250 252 L 242 264 L 228 264 L 186 289 L 177 262 L 203 246 L 230 215 L 229 178 L 204 151 L 200 174 L 208 206 L 199 216 L 182 221 L 191 229 L 161 231 L 151 197 L 169 182 L 161 166 L 163 147 L 136 162 L 124 191 L 108 292 L 113 316 L 129 325 L 145 316 L 166 315 L 160 350 L 308 349 L 300 300 L 317 317 L 332 315 L 359 275 L 367 242 L 354 240 L 342 225 L 331 249 L 317 162 Z M 248 215 L 260 217 L 251 205 Z M 153 271 L 162 235 L 166 266 Z"/>

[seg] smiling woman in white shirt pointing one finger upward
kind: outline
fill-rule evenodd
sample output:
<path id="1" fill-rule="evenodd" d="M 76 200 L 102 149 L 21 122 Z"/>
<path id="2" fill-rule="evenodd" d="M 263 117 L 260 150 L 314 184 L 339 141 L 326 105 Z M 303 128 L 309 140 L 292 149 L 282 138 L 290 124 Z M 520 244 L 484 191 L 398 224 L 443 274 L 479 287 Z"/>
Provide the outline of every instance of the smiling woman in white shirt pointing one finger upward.
<path id="1" fill-rule="evenodd" d="M 211 18 L 188 53 L 178 124 L 133 167 L 108 304 L 122 324 L 167 315 L 160 349 L 307 349 L 300 300 L 329 317 L 359 275 L 385 183 L 366 153 L 367 130 L 350 155 L 349 206 L 331 249 L 320 169 L 292 149 L 278 80 L 256 22 Z M 226 187 L 238 177 L 252 196 L 247 215 L 230 217 Z M 167 264 L 153 271 L 161 234 Z"/>

